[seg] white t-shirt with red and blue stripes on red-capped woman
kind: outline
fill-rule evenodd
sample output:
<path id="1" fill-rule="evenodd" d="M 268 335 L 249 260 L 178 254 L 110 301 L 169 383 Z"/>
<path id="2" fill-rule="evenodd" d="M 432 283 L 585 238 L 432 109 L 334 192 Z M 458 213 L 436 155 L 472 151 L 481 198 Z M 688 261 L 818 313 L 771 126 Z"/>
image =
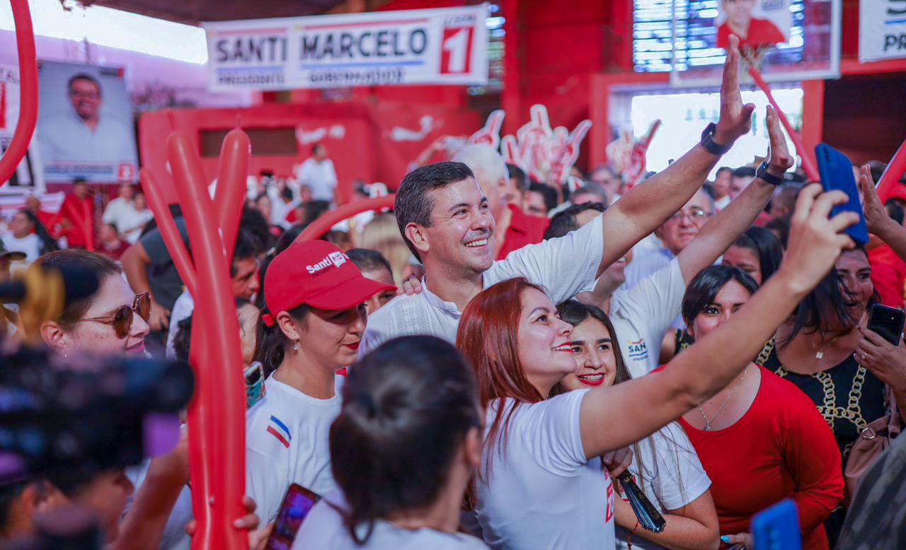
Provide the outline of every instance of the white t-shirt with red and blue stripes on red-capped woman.
<path id="1" fill-rule="evenodd" d="M 337 376 L 337 387 L 342 376 Z M 339 390 L 315 399 L 270 376 L 265 397 L 246 412 L 246 493 L 261 524 L 274 520 L 291 483 L 325 495 L 336 488 L 330 431 L 340 414 Z"/>

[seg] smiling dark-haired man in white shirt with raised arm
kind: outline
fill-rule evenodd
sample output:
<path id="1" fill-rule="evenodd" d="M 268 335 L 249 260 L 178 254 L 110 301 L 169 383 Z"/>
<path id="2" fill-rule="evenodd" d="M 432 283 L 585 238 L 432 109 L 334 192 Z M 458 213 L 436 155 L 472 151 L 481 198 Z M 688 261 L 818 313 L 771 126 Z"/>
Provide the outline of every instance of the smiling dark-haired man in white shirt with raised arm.
<path id="1" fill-rule="evenodd" d="M 728 55 L 728 60 L 735 59 Z M 360 356 L 403 335 L 430 334 L 455 341 L 468 301 L 500 280 L 525 277 L 548 289 L 555 303 L 590 289 L 607 266 L 686 204 L 719 156 L 747 133 L 754 106 L 742 103 L 737 70 L 735 61 L 726 65 L 720 119 L 707 128 L 699 145 L 633 187 L 582 229 L 526 246 L 504 261 L 493 260 L 496 224 L 466 165 L 437 163 L 406 175 L 395 210 L 403 238 L 425 266 L 422 292 L 393 299 L 369 318 Z"/>

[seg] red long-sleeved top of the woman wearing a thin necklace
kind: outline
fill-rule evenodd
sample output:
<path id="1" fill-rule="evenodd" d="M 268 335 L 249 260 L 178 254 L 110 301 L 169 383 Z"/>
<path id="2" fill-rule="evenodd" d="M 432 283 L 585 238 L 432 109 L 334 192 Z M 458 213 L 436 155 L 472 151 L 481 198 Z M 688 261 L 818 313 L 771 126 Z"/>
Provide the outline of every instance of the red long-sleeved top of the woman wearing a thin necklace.
<path id="1" fill-rule="evenodd" d="M 803 548 L 826 549 L 822 524 L 843 500 L 834 433 L 799 388 L 764 367 L 757 369 L 761 386 L 755 401 L 729 428 L 702 431 L 679 419 L 711 479 L 720 534 L 749 533 L 753 515 L 793 498 Z"/>

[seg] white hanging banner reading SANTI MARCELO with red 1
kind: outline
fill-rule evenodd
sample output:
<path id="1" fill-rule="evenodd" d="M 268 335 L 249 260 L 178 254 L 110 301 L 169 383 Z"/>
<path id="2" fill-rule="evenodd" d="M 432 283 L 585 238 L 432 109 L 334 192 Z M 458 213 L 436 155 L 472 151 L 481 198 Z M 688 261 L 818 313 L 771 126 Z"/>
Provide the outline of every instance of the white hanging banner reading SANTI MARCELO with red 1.
<path id="1" fill-rule="evenodd" d="M 203 23 L 210 90 L 487 83 L 487 5 Z"/>

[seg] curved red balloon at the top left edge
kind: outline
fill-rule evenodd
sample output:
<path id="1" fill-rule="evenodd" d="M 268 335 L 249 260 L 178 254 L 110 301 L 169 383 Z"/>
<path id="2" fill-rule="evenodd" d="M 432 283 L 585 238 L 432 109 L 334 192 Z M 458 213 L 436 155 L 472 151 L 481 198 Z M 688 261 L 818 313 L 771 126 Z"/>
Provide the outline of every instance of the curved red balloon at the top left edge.
<path id="1" fill-rule="evenodd" d="M 15 44 L 19 51 L 19 119 L 13 138 L 0 158 L 0 185 L 15 173 L 28 152 L 38 120 L 38 62 L 34 53 L 34 29 L 27 0 L 10 0 L 15 22 Z"/>

